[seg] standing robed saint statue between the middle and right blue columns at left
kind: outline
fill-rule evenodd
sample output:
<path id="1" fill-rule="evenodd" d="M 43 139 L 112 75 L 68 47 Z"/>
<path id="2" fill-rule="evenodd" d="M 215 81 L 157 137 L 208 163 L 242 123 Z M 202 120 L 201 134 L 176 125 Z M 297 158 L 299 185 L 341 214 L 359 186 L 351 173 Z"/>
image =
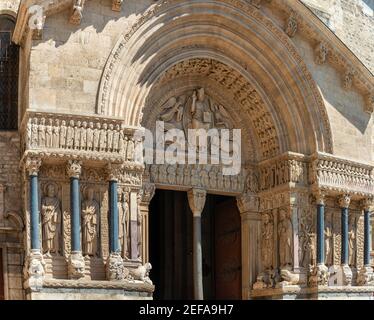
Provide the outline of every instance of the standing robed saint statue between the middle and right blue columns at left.
<path id="1" fill-rule="evenodd" d="M 95 256 L 97 254 L 98 214 L 99 204 L 94 199 L 93 188 L 89 187 L 86 191 L 86 199 L 82 204 L 82 244 L 83 254 L 87 256 Z"/>

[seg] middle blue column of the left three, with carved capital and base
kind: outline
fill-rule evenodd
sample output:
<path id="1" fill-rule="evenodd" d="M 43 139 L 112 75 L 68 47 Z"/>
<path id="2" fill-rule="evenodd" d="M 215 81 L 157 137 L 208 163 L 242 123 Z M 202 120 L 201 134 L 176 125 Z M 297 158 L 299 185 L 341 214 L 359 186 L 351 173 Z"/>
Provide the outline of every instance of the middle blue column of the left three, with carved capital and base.
<path id="1" fill-rule="evenodd" d="M 68 273 L 70 279 L 79 279 L 84 276 L 85 262 L 81 246 L 81 203 L 79 177 L 82 163 L 70 160 L 66 172 L 70 177 L 70 223 L 71 223 L 71 254 L 69 257 Z"/>

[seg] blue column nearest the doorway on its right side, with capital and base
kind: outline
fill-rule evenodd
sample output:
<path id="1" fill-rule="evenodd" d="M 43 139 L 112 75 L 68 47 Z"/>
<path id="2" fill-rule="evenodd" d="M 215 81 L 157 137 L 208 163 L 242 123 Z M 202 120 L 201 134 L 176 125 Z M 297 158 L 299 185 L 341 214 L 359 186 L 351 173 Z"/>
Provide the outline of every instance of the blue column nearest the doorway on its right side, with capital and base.
<path id="1" fill-rule="evenodd" d="M 309 277 L 310 286 L 327 286 L 330 274 L 325 265 L 325 194 L 316 193 L 317 204 L 317 265 Z"/>

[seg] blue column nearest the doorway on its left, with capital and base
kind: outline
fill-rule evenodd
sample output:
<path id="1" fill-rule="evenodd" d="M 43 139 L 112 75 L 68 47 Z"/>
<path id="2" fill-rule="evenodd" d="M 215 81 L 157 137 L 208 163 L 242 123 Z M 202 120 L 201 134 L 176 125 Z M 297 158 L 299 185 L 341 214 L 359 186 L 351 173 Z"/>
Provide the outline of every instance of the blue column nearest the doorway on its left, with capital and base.
<path id="1" fill-rule="evenodd" d="M 119 215 L 118 215 L 118 179 L 122 166 L 108 165 L 109 181 L 109 257 L 106 263 L 108 280 L 123 280 L 128 277 L 129 271 L 125 268 L 121 257 L 119 245 Z"/>

